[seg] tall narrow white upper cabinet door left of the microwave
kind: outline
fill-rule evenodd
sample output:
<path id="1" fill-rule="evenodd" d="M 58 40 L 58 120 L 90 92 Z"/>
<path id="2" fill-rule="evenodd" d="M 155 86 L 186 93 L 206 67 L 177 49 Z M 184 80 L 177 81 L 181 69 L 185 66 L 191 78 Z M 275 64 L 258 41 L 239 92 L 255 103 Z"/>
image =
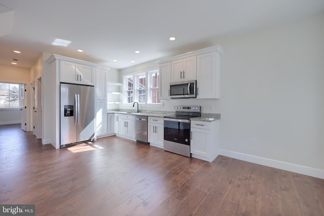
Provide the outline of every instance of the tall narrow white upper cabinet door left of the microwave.
<path id="1" fill-rule="evenodd" d="M 160 99 L 170 99 L 171 62 L 159 65 Z"/>

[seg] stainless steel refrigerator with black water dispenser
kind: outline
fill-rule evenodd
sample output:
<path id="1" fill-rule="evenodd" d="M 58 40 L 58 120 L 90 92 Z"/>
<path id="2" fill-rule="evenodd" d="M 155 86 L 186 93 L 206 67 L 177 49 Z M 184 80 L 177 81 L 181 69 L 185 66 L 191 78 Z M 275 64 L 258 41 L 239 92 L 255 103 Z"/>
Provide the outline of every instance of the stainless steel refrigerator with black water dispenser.
<path id="1" fill-rule="evenodd" d="M 60 147 L 92 140 L 95 135 L 94 87 L 67 83 L 60 86 Z"/>

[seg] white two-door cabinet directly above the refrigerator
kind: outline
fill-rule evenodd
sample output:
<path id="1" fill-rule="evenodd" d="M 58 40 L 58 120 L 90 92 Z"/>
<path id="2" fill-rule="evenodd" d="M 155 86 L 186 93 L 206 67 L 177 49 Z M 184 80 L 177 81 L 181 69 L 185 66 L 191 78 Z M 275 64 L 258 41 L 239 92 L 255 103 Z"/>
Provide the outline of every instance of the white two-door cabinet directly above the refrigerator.
<path id="1" fill-rule="evenodd" d="M 60 68 L 61 82 L 94 85 L 95 68 L 93 66 L 61 60 Z"/>

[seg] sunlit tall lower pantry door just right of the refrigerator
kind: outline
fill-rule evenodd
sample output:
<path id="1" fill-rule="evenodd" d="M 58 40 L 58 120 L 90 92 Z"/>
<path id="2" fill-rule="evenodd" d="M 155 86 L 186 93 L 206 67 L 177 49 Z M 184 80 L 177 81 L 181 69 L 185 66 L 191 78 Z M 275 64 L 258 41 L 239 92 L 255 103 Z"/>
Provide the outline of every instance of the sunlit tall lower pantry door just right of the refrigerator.
<path id="1" fill-rule="evenodd" d="M 96 128 L 97 136 L 103 136 L 107 134 L 107 102 L 104 100 L 97 100 L 96 111 Z"/>

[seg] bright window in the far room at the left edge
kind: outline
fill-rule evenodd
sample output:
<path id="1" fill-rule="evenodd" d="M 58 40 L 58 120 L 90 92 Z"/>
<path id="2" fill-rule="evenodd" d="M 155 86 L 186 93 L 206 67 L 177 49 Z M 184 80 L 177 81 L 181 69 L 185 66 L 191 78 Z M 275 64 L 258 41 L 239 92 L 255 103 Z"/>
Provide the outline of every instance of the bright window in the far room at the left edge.
<path id="1" fill-rule="evenodd" d="M 0 108 L 20 108 L 19 84 L 0 82 Z"/>

